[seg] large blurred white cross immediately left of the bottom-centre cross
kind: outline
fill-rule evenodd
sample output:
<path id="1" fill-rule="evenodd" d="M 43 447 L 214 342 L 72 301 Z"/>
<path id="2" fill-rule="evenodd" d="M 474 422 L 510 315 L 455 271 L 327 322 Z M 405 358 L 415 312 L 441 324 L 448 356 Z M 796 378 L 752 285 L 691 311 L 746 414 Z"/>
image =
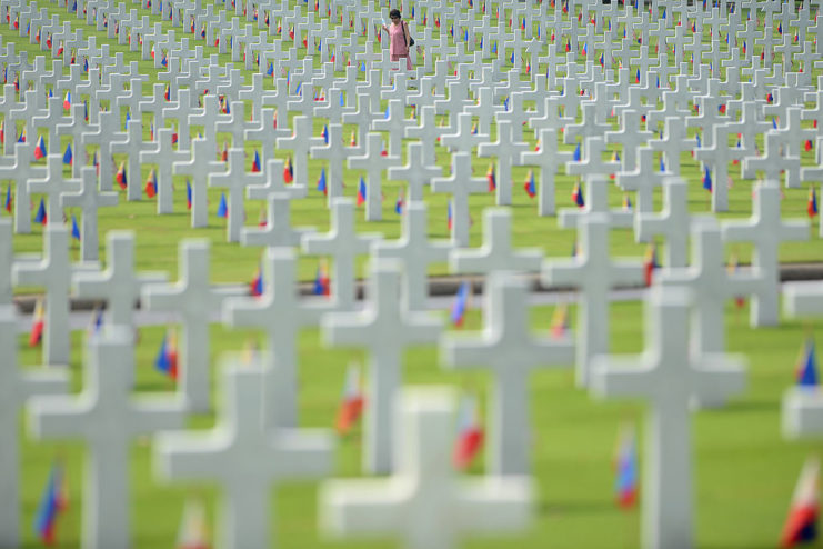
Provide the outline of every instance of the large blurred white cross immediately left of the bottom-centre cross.
<path id="1" fill-rule="evenodd" d="M 159 435 L 157 469 L 173 480 L 220 485 L 222 547 L 271 547 L 273 486 L 331 472 L 333 441 L 319 430 L 272 428 L 259 363 L 229 362 L 222 372 L 214 429 Z"/>

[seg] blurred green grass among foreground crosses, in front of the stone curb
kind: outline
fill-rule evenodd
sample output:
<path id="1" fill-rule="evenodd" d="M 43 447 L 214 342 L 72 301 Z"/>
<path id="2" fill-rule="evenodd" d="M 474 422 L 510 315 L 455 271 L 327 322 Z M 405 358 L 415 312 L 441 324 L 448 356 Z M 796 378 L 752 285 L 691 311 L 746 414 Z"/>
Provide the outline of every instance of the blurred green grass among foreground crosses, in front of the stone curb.
<path id="1" fill-rule="evenodd" d="M 553 309 L 532 309 L 534 330 L 545 333 Z M 573 311 L 572 311 L 573 316 Z M 705 548 L 774 547 L 803 460 L 823 450 L 821 442 L 787 442 L 780 433 L 780 399 L 793 381 L 797 349 L 807 332 L 801 321 L 783 319 L 780 327 L 750 329 L 747 311 L 730 303 L 726 315 L 729 349 L 749 359 L 749 387 L 725 408 L 693 416 L 694 501 L 696 540 Z M 463 331 L 481 327 L 481 315 L 469 313 Z M 642 309 L 636 302 L 611 308 L 611 341 L 614 352 L 634 353 L 643 348 Z M 573 325 L 573 318 L 572 318 Z M 137 391 L 170 391 L 172 382 L 153 368 L 162 327 L 140 329 L 136 349 Z M 211 332 L 213 363 L 225 351 L 239 351 L 250 341 L 262 343 L 253 330 L 230 330 L 214 325 Z M 73 390 L 80 390 L 81 347 L 84 335 L 72 335 L 70 371 Z M 23 345 L 23 338 L 21 338 Z M 265 346 L 262 345 L 264 348 Z M 300 336 L 300 425 L 331 428 L 339 405 L 347 365 L 362 361 L 362 349 L 325 348 L 317 330 Z M 37 363 L 39 350 L 24 348 L 20 360 Z M 218 368 L 213 373 L 218 376 Z M 404 382 L 448 383 L 479 395 L 481 416 L 486 413 L 490 377 L 483 371 L 444 370 L 433 347 L 405 353 Z M 219 391 L 215 383 L 213 391 Z M 558 548 L 638 547 L 640 515 L 620 510 L 613 501 L 612 458 L 619 426 L 631 421 L 640 429 L 645 405 L 598 402 L 574 388 L 571 368 L 535 371 L 530 382 L 532 411 L 532 460 L 538 486 L 536 515 L 522 536 L 473 540 L 465 547 L 493 548 L 529 545 Z M 213 426 L 213 416 L 190 419 L 192 428 Z M 23 436 L 22 482 L 24 547 L 38 547 L 31 523 L 53 459 L 66 460 L 70 507 L 60 518 L 58 547 L 78 547 L 81 517 L 82 442 L 34 442 Z M 338 440 L 334 476 L 353 477 L 360 469 L 361 432 Z M 173 543 L 185 497 L 198 495 L 208 502 L 214 527 L 214 502 L 219 488 L 168 485 L 154 477 L 150 440 L 134 443 L 132 451 L 132 530 L 134 548 L 169 547 Z M 641 455 L 642 461 L 642 455 Z M 480 460 L 472 475 L 484 471 Z M 393 541 L 332 542 L 317 529 L 317 482 L 287 485 L 272 490 L 273 531 L 278 547 L 398 547 Z"/>

